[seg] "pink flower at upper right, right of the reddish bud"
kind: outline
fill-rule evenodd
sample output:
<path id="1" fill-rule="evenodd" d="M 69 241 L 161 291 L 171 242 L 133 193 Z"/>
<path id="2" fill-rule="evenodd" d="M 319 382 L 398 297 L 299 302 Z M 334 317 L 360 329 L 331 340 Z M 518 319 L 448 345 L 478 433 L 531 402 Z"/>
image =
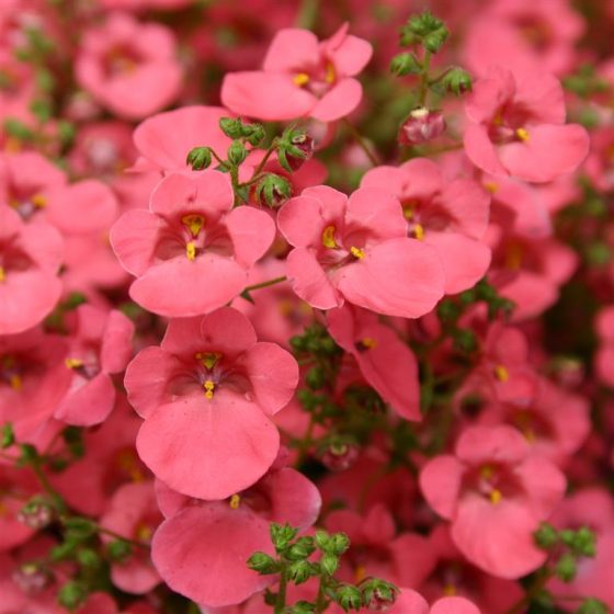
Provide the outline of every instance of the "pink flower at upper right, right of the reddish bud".
<path id="1" fill-rule="evenodd" d="M 552 181 L 576 170 L 589 151 L 587 130 L 564 125 L 564 92 L 552 75 L 492 67 L 474 84 L 465 110 L 465 151 L 493 175 Z"/>

